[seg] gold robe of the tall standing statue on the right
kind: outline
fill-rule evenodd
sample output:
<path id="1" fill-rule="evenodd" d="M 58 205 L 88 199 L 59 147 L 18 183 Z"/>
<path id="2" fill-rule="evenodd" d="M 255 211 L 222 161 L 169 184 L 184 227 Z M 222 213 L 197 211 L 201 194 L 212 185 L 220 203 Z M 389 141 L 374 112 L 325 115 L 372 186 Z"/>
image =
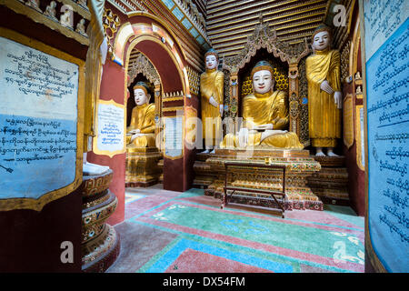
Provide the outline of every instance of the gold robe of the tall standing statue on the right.
<path id="1" fill-rule="evenodd" d="M 316 51 L 305 62 L 308 81 L 308 125 L 312 146 L 334 147 L 341 138 L 341 110 L 336 107 L 334 94 L 321 90 L 327 80 L 334 91 L 341 91 L 340 54 L 336 50 Z"/>

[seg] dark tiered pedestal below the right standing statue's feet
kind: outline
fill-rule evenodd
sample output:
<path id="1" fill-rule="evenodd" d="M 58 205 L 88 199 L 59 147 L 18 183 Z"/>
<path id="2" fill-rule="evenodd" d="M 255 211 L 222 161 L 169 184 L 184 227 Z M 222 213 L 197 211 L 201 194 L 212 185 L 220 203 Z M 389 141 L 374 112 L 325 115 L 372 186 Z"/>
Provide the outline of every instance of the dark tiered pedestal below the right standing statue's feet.
<path id="1" fill-rule="evenodd" d="M 308 186 L 324 204 L 349 206 L 348 171 L 344 156 L 314 156 L 321 170 L 308 177 Z"/>

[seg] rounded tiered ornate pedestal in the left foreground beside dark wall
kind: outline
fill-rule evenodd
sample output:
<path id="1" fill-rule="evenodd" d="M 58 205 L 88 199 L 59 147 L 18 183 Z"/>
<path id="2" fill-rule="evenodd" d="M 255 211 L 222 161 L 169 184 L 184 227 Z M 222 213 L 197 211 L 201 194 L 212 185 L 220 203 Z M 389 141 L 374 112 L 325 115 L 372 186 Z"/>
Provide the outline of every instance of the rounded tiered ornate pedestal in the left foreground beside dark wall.
<path id="1" fill-rule="evenodd" d="M 82 217 L 82 270 L 86 273 L 102 273 L 111 266 L 120 251 L 119 236 L 113 226 L 105 223 L 116 208 L 118 200 L 108 190 L 113 171 L 104 175 L 84 176 Z"/>

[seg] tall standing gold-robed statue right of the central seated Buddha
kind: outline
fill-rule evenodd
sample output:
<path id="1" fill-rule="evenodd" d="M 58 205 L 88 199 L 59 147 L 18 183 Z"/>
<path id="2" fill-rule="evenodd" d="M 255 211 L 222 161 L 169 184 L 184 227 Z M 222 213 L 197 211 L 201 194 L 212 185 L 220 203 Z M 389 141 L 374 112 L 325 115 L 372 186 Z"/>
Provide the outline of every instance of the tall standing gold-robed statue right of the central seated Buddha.
<path id="1" fill-rule="evenodd" d="M 341 92 L 340 54 L 330 49 L 331 30 L 320 25 L 313 34 L 314 55 L 306 59 L 308 81 L 308 125 L 316 156 L 334 154 L 336 139 L 341 138 Z"/>

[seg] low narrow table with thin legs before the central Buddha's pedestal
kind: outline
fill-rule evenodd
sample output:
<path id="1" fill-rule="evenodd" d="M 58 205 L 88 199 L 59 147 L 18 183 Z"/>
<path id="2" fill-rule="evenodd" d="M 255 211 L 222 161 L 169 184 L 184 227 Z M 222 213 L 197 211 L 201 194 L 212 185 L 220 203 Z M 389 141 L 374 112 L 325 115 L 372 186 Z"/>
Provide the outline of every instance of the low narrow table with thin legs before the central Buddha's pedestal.
<path id="1" fill-rule="evenodd" d="M 280 213 L 281 216 L 284 218 L 284 205 L 285 205 L 285 166 L 284 165 L 274 165 L 274 164 L 262 164 L 262 163 L 236 163 L 236 162 L 226 162 L 224 163 L 225 167 L 225 176 L 224 176 L 224 198 L 222 200 L 222 206 L 221 208 L 224 209 L 226 206 L 234 206 L 238 208 L 253 208 L 254 210 L 258 211 L 266 211 L 269 210 L 270 212 L 274 211 L 276 213 Z M 238 187 L 238 186 L 227 186 L 227 181 L 230 173 L 233 173 L 229 171 L 229 169 L 233 169 L 234 167 L 240 167 L 240 168 L 248 168 L 249 170 L 259 170 L 259 169 L 265 169 L 265 170 L 282 170 L 283 171 L 283 190 L 282 191 L 274 191 L 274 190 L 268 190 L 268 189 L 254 189 L 251 187 Z M 279 207 L 279 209 L 274 209 L 274 208 L 267 208 L 263 206 L 249 206 L 245 204 L 237 204 L 237 203 L 228 203 L 229 195 L 227 191 L 232 191 L 230 193 L 230 196 L 234 195 L 234 192 L 239 191 L 241 193 L 254 193 L 254 194 L 264 194 L 264 195 L 271 195 L 272 198 L 274 199 L 276 205 Z M 280 203 L 275 196 L 282 196 L 282 203 Z M 253 196 L 240 196 L 244 200 L 246 198 L 250 198 Z M 271 199 L 267 197 L 260 197 L 259 199 Z"/>

